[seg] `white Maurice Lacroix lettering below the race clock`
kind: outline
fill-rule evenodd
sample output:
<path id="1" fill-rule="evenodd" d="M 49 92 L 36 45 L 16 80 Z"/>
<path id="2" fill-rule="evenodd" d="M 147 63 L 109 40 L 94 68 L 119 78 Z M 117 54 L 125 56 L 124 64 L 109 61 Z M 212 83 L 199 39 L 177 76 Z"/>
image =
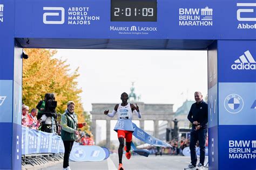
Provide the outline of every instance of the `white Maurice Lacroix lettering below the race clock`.
<path id="1" fill-rule="evenodd" d="M 115 31 L 118 34 L 149 34 L 150 32 L 156 32 L 157 27 L 147 26 L 110 26 L 110 31 Z"/>

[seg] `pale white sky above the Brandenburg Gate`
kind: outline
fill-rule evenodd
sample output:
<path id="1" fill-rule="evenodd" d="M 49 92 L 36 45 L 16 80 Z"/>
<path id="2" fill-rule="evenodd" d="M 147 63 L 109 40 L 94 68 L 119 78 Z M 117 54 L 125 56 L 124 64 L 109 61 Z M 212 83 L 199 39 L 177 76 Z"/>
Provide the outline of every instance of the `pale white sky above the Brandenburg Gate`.
<path id="1" fill-rule="evenodd" d="M 91 103 L 120 103 L 120 94 L 129 94 L 132 82 L 141 102 L 174 104 L 174 111 L 186 99 L 194 100 L 194 91 L 201 91 L 203 97 L 207 94 L 207 51 L 57 51 L 54 58 L 66 60 L 71 73 L 79 67 L 78 88 L 83 90 L 80 96 L 87 112 Z M 145 129 L 152 130 L 150 127 L 145 125 Z"/>

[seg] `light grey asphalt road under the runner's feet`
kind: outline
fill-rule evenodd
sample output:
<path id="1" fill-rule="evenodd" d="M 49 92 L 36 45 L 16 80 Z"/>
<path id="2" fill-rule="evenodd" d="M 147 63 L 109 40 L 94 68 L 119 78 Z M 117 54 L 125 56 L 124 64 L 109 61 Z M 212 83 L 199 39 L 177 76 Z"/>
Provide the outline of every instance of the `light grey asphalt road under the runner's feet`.
<path id="1" fill-rule="evenodd" d="M 206 157 L 207 158 L 207 157 Z M 207 160 L 206 160 L 207 163 Z M 183 156 L 172 156 L 172 155 L 150 155 L 149 157 L 142 157 L 140 155 L 132 156 L 130 160 L 127 160 L 123 156 L 123 166 L 125 170 L 129 169 L 156 169 L 156 170 L 181 170 L 184 169 L 190 164 L 190 157 Z M 106 160 L 99 162 L 73 162 L 70 161 L 70 168 L 72 170 L 79 169 L 106 169 L 112 170 L 118 168 L 118 155 L 111 154 L 110 157 Z M 42 168 L 43 170 L 59 170 L 62 169 L 62 164 L 57 164 L 48 168 Z M 205 168 L 208 169 L 208 168 Z"/>

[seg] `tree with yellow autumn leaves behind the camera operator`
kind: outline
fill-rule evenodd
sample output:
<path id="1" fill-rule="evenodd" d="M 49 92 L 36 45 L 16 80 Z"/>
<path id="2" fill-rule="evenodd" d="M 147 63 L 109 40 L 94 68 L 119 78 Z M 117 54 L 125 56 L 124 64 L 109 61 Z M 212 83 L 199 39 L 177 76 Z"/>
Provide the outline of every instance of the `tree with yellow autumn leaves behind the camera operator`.
<path id="1" fill-rule="evenodd" d="M 25 49 L 29 58 L 23 60 L 22 100 L 25 105 L 35 108 L 46 93 L 54 93 L 58 102 L 56 111 L 63 113 L 68 101 L 76 103 L 78 121 L 84 122 L 81 98 L 82 89 L 77 88 L 78 69 L 69 74 L 66 61 L 53 59 L 57 53 L 50 49 Z M 87 128 L 88 129 L 88 128 Z"/>

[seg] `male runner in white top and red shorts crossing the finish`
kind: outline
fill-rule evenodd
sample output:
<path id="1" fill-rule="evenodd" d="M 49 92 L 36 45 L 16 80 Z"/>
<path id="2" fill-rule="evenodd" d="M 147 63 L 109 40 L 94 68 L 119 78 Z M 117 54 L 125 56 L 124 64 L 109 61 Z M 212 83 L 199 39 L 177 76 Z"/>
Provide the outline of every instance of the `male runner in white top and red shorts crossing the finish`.
<path id="1" fill-rule="evenodd" d="M 124 138 L 126 141 L 126 147 L 124 150 L 126 151 L 125 156 L 127 159 L 131 158 L 131 143 L 132 143 L 132 133 L 133 133 L 133 125 L 132 125 L 132 112 L 136 113 L 136 115 L 141 118 L 142 115 L 139 112 L 139 107 L 136 104 L 136 107 L 131 104 L 127 103 L 129 99 L 127 93 L 122 93 L 121 95 L 121 104 L 117 104 L 114 107 L 114 110 L 111 114 L 109 114 L 109 110 L 105 110 L 104 114 L 113 117 L 118 114 L 117 124 L 114 127 L 114 131 L 117 131 L 117 136 L 119 140 L 119 148 L 118 148 L 118 157 L 119 157 L 119 167 L 118 170 L 124 170 L 122 164 L 122 156 L 123 156 L 123 147 L 124 147 Z"/>

